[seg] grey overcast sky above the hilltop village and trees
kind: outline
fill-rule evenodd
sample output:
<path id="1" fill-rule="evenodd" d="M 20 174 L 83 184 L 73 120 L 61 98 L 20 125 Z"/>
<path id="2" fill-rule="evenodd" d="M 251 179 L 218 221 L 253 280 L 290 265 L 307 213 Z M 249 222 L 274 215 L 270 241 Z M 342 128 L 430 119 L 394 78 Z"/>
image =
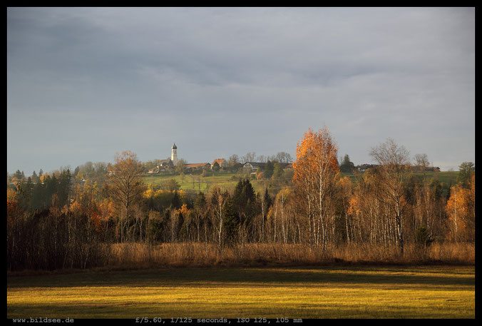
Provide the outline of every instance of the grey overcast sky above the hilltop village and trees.
<path id="1" fill-rule="evenodd" d="M 475 163 L 473 8 L 9 8 L 7 171 L 247 152 L 327 126 Z"/>

